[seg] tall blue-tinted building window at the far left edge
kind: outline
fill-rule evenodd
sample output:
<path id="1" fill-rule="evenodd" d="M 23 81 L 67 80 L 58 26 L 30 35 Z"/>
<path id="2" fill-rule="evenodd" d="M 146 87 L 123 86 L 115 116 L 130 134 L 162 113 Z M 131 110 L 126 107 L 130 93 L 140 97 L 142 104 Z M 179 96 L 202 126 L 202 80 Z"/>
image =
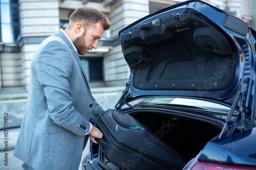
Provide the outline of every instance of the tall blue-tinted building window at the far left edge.
<path id="1" fill-rule="evenodd" d="M 16 43 L 19 35 L 18 0 L 0 0 L 1 41 Z"/>

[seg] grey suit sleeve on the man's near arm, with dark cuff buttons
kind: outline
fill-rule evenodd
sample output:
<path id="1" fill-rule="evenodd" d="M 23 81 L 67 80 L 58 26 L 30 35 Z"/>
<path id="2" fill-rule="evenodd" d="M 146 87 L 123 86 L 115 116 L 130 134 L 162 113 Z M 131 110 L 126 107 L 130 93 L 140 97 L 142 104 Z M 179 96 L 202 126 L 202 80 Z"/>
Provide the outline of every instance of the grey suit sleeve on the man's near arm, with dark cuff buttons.
<path id="1" fill-rule="evenodd" d="M 89 133 L 90 123 L 72 105 L 72 57 L 66 44 L 58 40 L 50 41 L 40 53 L 36 71 L 40 85 L 44 87 L 50 117 L 57 125 L 82 136 Z"/>

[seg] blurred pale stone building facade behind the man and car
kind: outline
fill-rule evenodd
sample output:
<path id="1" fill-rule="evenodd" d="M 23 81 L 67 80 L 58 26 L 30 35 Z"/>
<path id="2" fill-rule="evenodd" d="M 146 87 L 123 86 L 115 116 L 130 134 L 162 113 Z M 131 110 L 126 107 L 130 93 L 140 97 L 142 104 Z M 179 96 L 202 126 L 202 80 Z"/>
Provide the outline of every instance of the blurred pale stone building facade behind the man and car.
<path id="1" fill-rule="evenodd" d="M 256 1 L 204 0 L 256 29 Z M 102 11 L 112 23 L 97 50 L 80 56 L 91 87 L 124 86 L 130 69 L 122 55 L 118 31 L 147 14 L 184 0 L 0 0 L 0 89 L 29 87 L 30 63 L 42 40 L 67 27 L 79 6 Z M 254 16 L 254 17 L 253 17 Z"/>

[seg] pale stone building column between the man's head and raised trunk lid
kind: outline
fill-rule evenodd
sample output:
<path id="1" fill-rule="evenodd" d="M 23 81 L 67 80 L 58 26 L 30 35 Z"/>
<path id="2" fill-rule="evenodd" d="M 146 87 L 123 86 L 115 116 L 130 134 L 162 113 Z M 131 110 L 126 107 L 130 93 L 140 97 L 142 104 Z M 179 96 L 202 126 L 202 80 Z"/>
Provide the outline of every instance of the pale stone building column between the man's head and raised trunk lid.
<path id="1" fill-rule="evenodd" d="M 111 4 L 115 2 L 115 4 Z M 120 42 L 118 32 L 132 22 L 149 14 L 148 0 L 104 0 L 103 3 L 111 4 L 109 20 L 111 22 L 112 37 L 114 42 Z M 117 43 L 112 50 L 104 55 L 103 68 L 106 86 L 124 86 L 130 75 L 130 69 L 122 54 L 121 45 Z"/>

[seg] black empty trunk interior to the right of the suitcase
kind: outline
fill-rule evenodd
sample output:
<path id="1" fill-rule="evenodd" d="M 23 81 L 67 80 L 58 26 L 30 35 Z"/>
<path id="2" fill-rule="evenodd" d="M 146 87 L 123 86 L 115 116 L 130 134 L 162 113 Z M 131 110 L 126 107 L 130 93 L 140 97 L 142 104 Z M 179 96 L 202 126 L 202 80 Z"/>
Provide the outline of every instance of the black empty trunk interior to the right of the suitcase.
<path id="1" fill-rule="evenodd" d="M 220 120 L 191 113 L 138 109 L 129 114 L 173 148 L 186 163 L 196 157 L 208 141 L 217 138 L 224 126 Z"/>

